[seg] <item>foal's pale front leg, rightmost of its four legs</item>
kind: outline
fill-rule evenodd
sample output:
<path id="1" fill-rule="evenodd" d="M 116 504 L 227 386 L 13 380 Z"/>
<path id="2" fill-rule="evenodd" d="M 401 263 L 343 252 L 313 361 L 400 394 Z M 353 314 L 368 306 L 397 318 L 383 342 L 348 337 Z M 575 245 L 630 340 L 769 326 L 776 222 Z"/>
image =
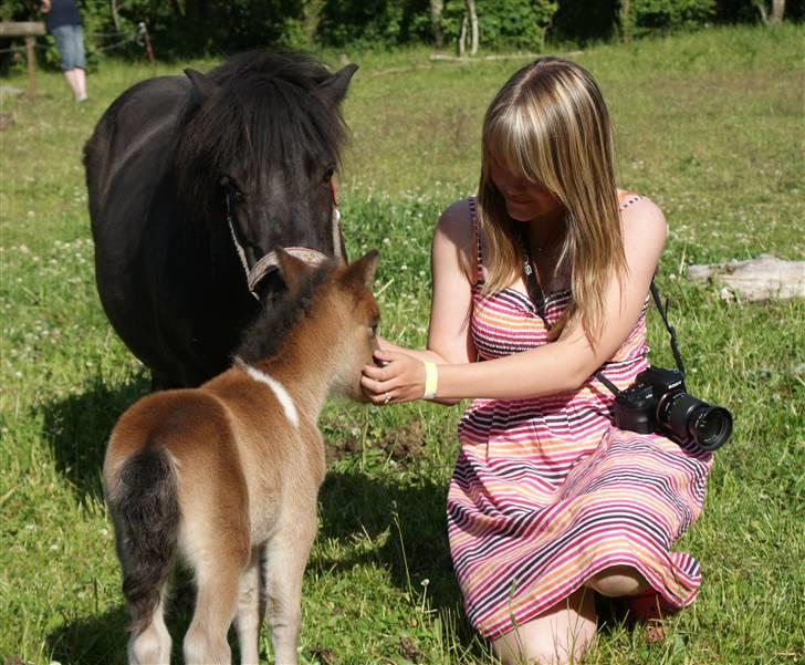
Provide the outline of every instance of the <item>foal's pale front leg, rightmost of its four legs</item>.
<path id="1" fill-rule="evenodd" d="M 265 554 L 265 596 L 276 665 L 296 665 L 302 620 L 302 576 L 316 534 L 316 503 L 300 502 L 288 510 Z"/>

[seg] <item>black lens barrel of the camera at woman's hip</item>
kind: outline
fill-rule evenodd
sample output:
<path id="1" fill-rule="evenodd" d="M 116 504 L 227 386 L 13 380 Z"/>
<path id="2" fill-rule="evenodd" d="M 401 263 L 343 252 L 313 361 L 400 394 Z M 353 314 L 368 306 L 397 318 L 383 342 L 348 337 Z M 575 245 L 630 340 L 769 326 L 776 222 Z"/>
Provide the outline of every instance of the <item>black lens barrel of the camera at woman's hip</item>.
<path id="1" fill-rule="evenodd" d="M 658 422 L 680 440 L 692 440 L 703 450 L 723 446 L 732 435 L 732 415 L 681 391 L 667 393 L 657 408 Z"/>

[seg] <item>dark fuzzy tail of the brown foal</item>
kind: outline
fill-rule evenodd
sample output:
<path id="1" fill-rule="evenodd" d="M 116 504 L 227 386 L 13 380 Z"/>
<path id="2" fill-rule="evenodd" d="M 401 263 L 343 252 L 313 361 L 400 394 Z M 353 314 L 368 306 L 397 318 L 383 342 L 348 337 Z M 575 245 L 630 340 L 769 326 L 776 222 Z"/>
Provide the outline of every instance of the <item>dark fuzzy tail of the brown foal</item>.
<path id="1" fill-rule="evenodd" d="M 147 627 L 176 555 L 179 501 L 176 471 L 165 448 L 148 446 L 123 463 L 109 499 L 115 518 L 123 595 L 135 634 Z"/>

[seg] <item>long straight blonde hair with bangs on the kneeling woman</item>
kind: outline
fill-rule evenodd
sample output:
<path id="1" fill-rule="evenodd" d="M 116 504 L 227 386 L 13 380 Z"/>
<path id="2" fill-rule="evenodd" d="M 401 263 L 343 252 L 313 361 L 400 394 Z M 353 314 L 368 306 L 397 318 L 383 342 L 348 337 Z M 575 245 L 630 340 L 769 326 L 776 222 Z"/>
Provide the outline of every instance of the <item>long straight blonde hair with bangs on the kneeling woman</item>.
<path id="1" fill-rule="evenodd" d="M 555 339 L 569 320 L 581 321 L 590 343 L 600 331 L 604 291 L 613 272 L 626 274 L 611 126 L 590 74 L 561 58 L 541 58 L 516 72 L 498 92 L 483 121 L 478 195 L 487 239 L 484 293 L 512 283 L 522 266 L 522 222 L 509 217 L 490 178 L 494 163 L 515 177 L 543 186 L 566 210 L 557 270 L 569 261 L 572 302 L 553 326 Z"/>

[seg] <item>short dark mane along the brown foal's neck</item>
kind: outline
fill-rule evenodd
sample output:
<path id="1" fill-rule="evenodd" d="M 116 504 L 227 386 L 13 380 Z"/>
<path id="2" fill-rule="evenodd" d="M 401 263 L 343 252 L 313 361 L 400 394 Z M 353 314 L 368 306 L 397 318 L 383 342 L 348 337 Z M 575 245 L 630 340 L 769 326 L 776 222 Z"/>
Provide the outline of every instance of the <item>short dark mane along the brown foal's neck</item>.
<path id="1" fill-rule="evenodd" d="M 236 355 L 247 364 L 279 355 L 291 329 L 311 313 L 316 291 L 332 279 L 335 268 L 334 260 L 323 262 L 305 274 L 293 292 L 285 292 L 272 306 L 264 308 L 247 329 Z"/>

